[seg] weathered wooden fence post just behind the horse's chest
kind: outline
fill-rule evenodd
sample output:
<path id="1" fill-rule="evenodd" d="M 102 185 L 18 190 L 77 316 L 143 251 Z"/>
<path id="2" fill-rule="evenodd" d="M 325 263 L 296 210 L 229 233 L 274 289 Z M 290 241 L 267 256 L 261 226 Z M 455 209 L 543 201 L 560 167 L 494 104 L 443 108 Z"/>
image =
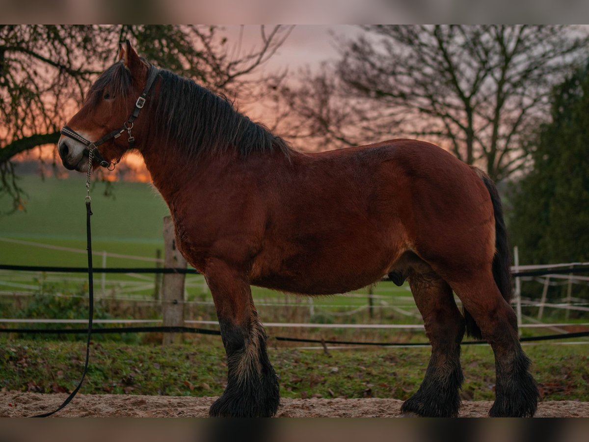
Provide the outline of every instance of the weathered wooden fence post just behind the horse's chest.
<path id="1" fill-rule="evenodd" d="M 164 216 L 164 268 L 186 268 L 186 259 L 176 247 L 174 223 L 171 216 Z M 161 301 L 164 326 L 184 325 L 184 273 L 164 273 Z M 164 333 L 163 344 L 181 342 L 180 333 Z"/>

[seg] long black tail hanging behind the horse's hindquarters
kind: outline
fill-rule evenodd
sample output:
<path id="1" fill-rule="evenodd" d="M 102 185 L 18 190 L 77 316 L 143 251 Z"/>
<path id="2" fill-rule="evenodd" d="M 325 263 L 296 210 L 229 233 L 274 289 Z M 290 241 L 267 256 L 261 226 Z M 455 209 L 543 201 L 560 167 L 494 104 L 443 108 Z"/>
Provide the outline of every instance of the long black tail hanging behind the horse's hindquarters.
<path id="1" fill-rule="evenodd" d="M 495 256 L 493 257 L 493 278 L 499 288 L 499 292 L 503 295 L 505 301 L 509 303 L 511 300 L 511 255 L 509 255 L 509 243 L 507 241 L 507 229 L 505 229 L 505 221 L 503 219 L 503 207 L 501 199 L 497 192 L 495 183 L 491 180 L 484 171 L 473 167 L 477 175 L 485 183 L 485 187 L 491 196 L 491 203 L 493 204 L 493 212 L 495 214 Z M 464 310 L 464 319 L 466 322 L 466 334 L 472 338 L 482 339 L 481 329 L 472 318 L 471 314 Z"/>

